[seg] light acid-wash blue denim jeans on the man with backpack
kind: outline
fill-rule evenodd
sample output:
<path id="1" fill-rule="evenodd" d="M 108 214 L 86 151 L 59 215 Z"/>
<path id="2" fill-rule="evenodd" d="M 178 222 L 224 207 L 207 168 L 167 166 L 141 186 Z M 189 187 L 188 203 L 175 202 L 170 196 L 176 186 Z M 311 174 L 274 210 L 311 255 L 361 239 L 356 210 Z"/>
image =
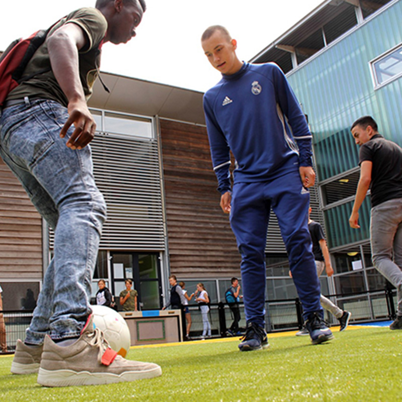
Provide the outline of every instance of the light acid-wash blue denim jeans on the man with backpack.
<path id="1" fill-rule="evenodd" d="M 91 313 L 89 298 L 106 204 L 95 185 L 90 147 L 67 148 L 67 109 L 38 99 L 1 111 L 0 155 L 55 231 L 54 257 L 26 342 L 75 338 Z"/>

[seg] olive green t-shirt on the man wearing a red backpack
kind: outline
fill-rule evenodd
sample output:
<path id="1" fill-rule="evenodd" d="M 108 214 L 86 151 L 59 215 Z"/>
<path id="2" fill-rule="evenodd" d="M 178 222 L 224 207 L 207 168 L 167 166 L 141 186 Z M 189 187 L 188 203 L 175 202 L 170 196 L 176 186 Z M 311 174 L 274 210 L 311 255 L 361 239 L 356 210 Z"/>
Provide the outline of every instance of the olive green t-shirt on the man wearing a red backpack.
<path id="1" fill-rule="evenodd" d="M 66 17 L 59 20 L 50 30 L 51 35 L 62 25 L 72 23 L 82 28 L 87 37 L 87 44 L 78 52 L 79 74 L 86 100 L 92 94 L 92 86 L 97 78 L 100 64 L 100 46 L 108 29 L 106 18 L 99 10 L 93 8 L 82 8 L 73 11 Z M 47 70 L 47 71 L 46 71 Z M 46 71 L 34 75 L 29 80 L 22 82 L 13 89 L 7 100 L 23 99 L 24 96 L 31 96 L 43 99 L 52 99 L 67 107 L 68 100 L 60 88 L 50 66 L 49 53 L 46 41 L 36 51 L 29 61 L 23 76 L 30 76 L 37 71 Z"/>

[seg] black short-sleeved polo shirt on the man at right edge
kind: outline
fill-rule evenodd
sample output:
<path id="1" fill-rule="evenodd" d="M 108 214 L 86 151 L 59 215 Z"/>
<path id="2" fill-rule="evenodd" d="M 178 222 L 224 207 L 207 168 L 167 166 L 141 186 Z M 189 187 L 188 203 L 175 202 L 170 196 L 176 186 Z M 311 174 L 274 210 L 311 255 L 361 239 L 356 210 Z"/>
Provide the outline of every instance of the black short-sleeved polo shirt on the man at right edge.
<path id="1" fill-rule="evenodd" d="M 375 134 L 360 147 L 359 165 L 371 161 L 371 206 L 402 198 L 402 148 Z"/>

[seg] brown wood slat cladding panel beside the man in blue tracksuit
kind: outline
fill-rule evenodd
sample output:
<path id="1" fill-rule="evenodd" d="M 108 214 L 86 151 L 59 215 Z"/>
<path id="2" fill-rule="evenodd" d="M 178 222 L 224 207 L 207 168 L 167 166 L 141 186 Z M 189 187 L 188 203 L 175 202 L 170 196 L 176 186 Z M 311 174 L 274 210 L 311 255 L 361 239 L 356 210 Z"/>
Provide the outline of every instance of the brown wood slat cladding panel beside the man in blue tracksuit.
<path id="1" fill-rule="evenodd" d="M 238 276 L 241 258 L 219 206 L 206 128 L 161 119 L 160 129 L 171 273 Z"/>

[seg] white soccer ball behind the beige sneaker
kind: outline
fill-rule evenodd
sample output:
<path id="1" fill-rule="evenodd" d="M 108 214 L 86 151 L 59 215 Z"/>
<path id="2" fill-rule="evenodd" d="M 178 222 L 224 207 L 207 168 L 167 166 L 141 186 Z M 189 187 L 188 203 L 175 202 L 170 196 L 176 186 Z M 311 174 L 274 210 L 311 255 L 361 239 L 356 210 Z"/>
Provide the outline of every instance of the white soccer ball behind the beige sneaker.
<path id="1" fill-rule="evenodd" d="M 93 324 L 105 335 L 110 347 L 126 357 L 130 349 L 130 330 L 126 320 L 116 311 L 106 306 L 91 306 Z"/>

